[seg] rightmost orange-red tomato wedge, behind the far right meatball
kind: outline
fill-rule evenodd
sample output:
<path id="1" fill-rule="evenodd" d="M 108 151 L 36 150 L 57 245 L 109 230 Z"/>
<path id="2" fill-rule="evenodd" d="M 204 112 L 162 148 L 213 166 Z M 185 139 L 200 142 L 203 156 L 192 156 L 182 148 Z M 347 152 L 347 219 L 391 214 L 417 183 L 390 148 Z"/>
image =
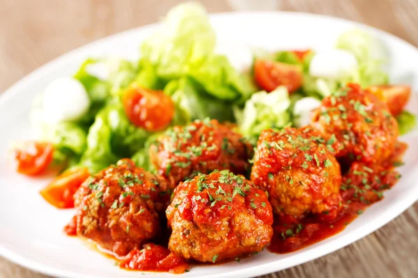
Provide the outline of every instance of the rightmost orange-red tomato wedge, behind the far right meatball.
<path id="1" fill-rule="evenodd" d="M 411 95 L 411 88 L 408 85 L 375 85 L 367 90 L 378 95 L 393 116 L 402 112 Z"/>

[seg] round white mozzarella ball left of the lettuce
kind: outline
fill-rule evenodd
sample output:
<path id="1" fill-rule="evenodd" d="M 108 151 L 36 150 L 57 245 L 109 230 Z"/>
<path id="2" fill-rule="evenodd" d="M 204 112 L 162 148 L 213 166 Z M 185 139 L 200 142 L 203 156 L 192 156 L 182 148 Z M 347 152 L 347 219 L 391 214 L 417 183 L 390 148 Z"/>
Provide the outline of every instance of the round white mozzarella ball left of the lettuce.
<path id="1" fill-rule="evenodd" d="M 48 122 L 78 120 L 90 107 L 83 84 L 72 77 L 62 77 L 50 83 L 42 99 Z"/>

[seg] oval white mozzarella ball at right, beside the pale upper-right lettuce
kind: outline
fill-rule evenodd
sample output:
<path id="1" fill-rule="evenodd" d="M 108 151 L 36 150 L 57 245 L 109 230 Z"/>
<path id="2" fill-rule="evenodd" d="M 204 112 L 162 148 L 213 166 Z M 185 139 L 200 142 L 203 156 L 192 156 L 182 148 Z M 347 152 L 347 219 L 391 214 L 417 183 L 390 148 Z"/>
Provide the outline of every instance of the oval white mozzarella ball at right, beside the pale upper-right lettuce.
<path id="1" fill-rule="evenodd" d="M 338 79 L 351 76 L 358 67 L 357 59 L 343 49 L 319 51 L 312 57 L 309 74 L 315 77 Z"/>

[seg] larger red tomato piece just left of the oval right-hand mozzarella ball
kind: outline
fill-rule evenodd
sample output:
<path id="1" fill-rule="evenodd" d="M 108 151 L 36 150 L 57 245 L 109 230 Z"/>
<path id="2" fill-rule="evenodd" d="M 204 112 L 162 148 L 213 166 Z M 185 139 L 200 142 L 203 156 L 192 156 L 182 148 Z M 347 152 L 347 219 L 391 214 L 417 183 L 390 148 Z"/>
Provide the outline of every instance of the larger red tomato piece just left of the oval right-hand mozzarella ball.
<path id="1" fill-rule="evenodd" d="M 289 93 L 302 86 L 302 68 L 270 60 L 256 60 L 254 63 L 254 79 L 258 86 L 271 92 L 279 85 L 284 85 Z"/>

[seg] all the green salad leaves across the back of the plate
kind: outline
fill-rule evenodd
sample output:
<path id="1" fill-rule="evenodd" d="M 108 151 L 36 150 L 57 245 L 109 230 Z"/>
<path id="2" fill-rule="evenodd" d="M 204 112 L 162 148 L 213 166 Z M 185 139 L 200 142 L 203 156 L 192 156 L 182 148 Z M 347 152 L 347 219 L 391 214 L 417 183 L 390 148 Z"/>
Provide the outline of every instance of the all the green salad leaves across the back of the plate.
<path id="1" fill-rule="evenodd" d="M 263 59 L 300 65 L 304 83 L 291 96 L 284 87 L 257 92 L 252 72 L 236 70 L 227 56 L 215 53 L 216 45 L 206 11 L 199 4 L 183 3 L 170 10 L 158 31 L 141 44 L 139 60 L 88 58 L 74 76 L 91 101 L 86 115 L 78 121 L 42 124 L 42 138 L 54 144 L 56 163 L 86 166 L 94 173 L 119 158 L 132 157 L 152 170 L 148 147 L 159 133 L 135 126 L 127 118 L 122 96 L 132 82 L 171 97 L 175 106 L 171 125 L 206 117 L 236 122 L 238 130 L 253 143 L 263 129 L 292 125 L 293 106 L 299 99 L 322 99 L 346 82 L 364 88 L 388 83 L 380 42 L 358 30 L 347 31 L 336 41 L 336 48 L 353 54 L 358 63 L 343 78 L 312 76 L 309 68 L 314 51 L 302 59 L 294 51 L 258 54 Z M 401 133 L 415 126 L 415 116 L 408 112 L 397 120 Z"/>

